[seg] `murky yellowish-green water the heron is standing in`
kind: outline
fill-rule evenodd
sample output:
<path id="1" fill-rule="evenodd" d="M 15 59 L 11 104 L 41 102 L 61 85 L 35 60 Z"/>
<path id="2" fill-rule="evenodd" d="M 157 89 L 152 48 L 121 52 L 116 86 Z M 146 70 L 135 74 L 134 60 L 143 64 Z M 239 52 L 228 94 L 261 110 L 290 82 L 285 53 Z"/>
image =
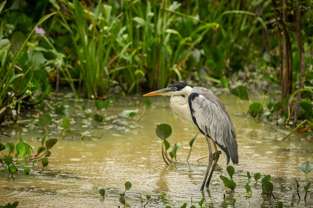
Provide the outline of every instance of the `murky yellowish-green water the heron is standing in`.
<path id="1" fill-rule="evenodd" d="M 236 194 L 226 195 L 219 176 L 227 176 L 226 165 L 222 157 L 211 179 L 208 191 L 200 192 L 200 186 L 207 166 L 207 159 L 197 160 L 207 156 L 207 145 L 204 137 L 199 135 L 195 140 L 188 163 L 186 157 L 189 151 L 189 140 L 197 130 L 190 125 L 174 118 L 168 105 L 168 97 L 152 97 L 152 107 L 147 109 L 145 116 L 138 125 L 124 125 L 121 120 L 118 124 L 106 126 L 104 135 L 100 140 L 102 127 L 99 123 L 83 117 L 79 107 L 74 108 L 74 101 L 69 101 L 70 117 L 76 121 L 71 125 L 76 135 L 71 139 L 61 139 L 61 129 L 51 126 L 49 132 L 52 137 L 59 138 L 57 144 L 51 149 L 48 170 L 42 173 L 32 172 L 30 175 L 19 173 L 10 179 L 7 172 L 0 172 L 0 205 L 19 202 L 20 208 L 117 208 L 123 207 L 119 203 L 119 194 L 124 191 L 124 183 L 131 182 L 132 188 L 125 193 L 126 206 L 140 208 L 140 198 L 145 203 L 145 195 L 150 194 L 146 208 L 163 208 L 169 205 L 179 208 L 183 203 L 188 206 L 197 205 L 205 198 L 205 206 L 258 208 L 275 207 L 277 201 L 284 207 L 290 207 L 292 194 L 296 194 L 295 182 L 301 185 L 301 200 L 294 202 L 294 207 L 305 207 L 303 200 L 304 174 L 297 165 L 307 160 L 313 161 L 313 145 L 301 139 L 280 142 L 282 133 L 274 131 L 265 124 L 256 124 L 253 119 L 240 114 L 241 110 L 233 96 L 220 95 L 225 104 L 237 135 L 239 164 L 234 168 L 236 173 L 233 180 L 237 186 Z M 136 106 L 137 98 L 119 99 L 108 108 L 108 116 L 116 115 L 124 109 L 139 108 Z M 79 102 L 76 103 L 78 106 Z M 92 104 L 90 104 L 90 107 Z M 138 117 L 138 116 L 137 116 Z M 168 139 L 171 147 L 174 143 L 181 144 L 177 152 L 177 163 L 166 166 L 161 157 L 161 141 L 155 135 L 157 124 L 167 123 L 172 127 L 172 135 Z M 0 137 L 3 144 L 6 141 L 18 142 L 14 130 L 6 129 L 6 134 L 12 135 L 7 139 Z M 14 134 L 15 133 L 15 134 Z M 80 133 L 86 136 L 80 140 Z M 23 133 L 26 142 L 36 149 L 40 146 L 44 135 L 41 127 Z M 171 148 L 170 148 L 171 149 Z M 38 170 L 39 167 L 36 167 Z M 252 185 L 252 197 L 247 198 L 244 185 L 247 182 L 246 172 L 252 174 L 260 172 L 262 176 L 271 175 L 274 184 L 274 196 L 277 201 L 263 200 L 261 197 L 260 182 Z M 312 174 L 308 174 L 312 181 Z M 104 188 L 105 198 L 98 193 Z M 164 201 L 158 198 L 163 192 L 167 193 Z M 143 204 L 144 204 L 143 203 Z M 311 192 L 307 196 L 306 206 L 312 207 Z"/>

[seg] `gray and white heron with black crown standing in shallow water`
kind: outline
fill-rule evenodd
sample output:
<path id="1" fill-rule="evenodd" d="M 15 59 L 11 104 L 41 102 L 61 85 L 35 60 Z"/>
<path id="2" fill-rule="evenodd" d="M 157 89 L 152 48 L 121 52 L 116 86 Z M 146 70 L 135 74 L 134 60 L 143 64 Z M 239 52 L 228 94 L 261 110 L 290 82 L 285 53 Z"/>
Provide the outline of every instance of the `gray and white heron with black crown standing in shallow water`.
<path id="1" fill-rule="evenodd" d="M 233 164 L 238 163 L 236 133 L 226 108 L 210 90 L 204 87 L 191 88 L 183 82 L 175 82 L 166 88 L 146 93 L 143 96 L 155 95 L 171 96 L 169 105 L 174 115 L 181 120 L 194 124 L 205 136 L 209 159 L 200 190 L 203 191 L 204 186 L 208 189 L 219 158 L 216 145 L 221 149 L 227 165 L 230 160 Z M 212 153 L 210 140 L 213 141 L 214 154 Z M 212 162 L 213 166 L 207 179 Z"/>

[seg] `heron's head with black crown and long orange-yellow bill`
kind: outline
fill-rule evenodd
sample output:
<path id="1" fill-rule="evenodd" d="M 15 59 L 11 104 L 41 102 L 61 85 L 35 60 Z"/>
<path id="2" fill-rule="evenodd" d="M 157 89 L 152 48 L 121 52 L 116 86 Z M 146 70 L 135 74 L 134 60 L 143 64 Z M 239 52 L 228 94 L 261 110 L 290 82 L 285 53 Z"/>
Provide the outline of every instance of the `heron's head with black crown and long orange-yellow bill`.
<path id="1" fill-rule="evenodd" d="M 153 92 L 144 94 L 143 96 L 155 96 L 155 95 L 187 95 L 191 91 L 191 87 L 183 82 L 175 82 L 170 84 L 168 87 L 159 89 Z"/>

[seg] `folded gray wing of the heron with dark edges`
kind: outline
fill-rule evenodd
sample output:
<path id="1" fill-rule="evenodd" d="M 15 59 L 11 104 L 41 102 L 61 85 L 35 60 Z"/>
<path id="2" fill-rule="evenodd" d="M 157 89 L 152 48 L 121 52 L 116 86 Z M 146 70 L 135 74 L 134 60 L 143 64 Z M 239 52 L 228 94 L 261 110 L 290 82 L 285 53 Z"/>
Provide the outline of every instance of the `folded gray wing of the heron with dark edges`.
<path id="1" fill-rule="evenodd" d="M 238 163 L 238 148 L 233 124 L 224 105 L 214 93 L 203 87 L 193 87 L 188 97 L 193 123 L 205 137 L 212 139 L 229 157 Z"/>

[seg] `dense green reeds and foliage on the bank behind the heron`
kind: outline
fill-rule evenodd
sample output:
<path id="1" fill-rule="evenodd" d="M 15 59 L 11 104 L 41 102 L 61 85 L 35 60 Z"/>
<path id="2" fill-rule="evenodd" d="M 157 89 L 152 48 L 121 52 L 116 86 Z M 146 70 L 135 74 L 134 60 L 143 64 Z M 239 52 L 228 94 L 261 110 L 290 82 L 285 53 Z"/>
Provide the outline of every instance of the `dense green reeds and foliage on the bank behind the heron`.
<path id="1" fill-rule="evenodd" d="M 105 99 L 175 81 L 264 91 L 253 117 L 312 124 L 312 0 L 11 0 L 0 4 L 0 123 L 58 86 Z M 266 103 L 267 112 L 263 111 Z M 16 116 L 17 115 L 17 116 Z M 299 121 L 298 121 L 299 119 Z"/>

